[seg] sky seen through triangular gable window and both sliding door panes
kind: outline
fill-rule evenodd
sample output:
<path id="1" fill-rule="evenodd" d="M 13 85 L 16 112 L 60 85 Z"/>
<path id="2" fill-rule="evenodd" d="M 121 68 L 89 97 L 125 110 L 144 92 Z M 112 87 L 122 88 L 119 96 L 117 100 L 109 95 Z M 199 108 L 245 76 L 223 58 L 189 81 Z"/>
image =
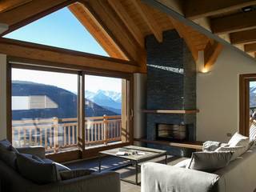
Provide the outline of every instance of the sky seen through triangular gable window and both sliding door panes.
<path id="1" fill-rule="evenodd" d="M 109 57 L 106 51 L 102 49 L 98 42 L 67 8 L 58 10 L 10 34 L 6 34 L 5 38 Z M 74 74 L 57 74 L 19 69 L 14 69 L 12 72 L 13 80 L 38 82 L 77 92 L 77 77 Z M 93 92 L 97 90 L 121 92 L 121 79 L 102 78 L 91 75 L 87 75 L 86 79 L 86 90 Z"/>

